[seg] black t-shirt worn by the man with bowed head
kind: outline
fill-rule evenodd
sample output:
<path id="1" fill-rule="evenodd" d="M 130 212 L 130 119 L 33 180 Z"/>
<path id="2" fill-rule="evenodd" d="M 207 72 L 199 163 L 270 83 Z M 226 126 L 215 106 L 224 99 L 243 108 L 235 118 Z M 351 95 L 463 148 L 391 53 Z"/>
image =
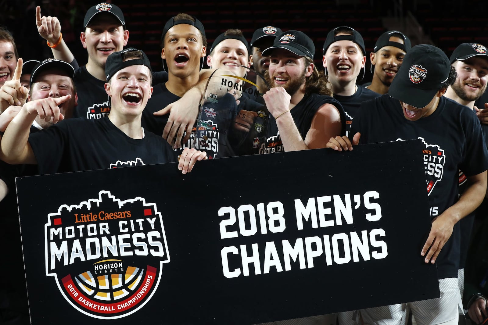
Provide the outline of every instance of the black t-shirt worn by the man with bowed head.
<path id="1" fill-rule="evenodd" d="M 426 172 L 431 218 L 458 199 L 459 169 L 466 175 L 488 168 L 488 151 L 480 122 L 466 106 L 441 97 L 437 109 L 418 121 L 408 121 L 399 101 L 387 94 L 364 102 L 351 126 L 351 137 L 361 132 L 360 144 L 420 139 Z M 460 256 L 460 229 L 452 235 L 437 258 L 439 279 L 456 278 Z"/>

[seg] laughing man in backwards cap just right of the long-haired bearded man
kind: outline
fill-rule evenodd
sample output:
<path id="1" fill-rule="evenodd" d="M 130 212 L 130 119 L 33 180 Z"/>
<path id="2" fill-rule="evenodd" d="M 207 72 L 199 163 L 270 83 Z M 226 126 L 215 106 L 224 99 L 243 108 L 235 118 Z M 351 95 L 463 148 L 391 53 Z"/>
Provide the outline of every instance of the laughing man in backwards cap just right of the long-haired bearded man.
<path id="1" fill-rule="evenodd" d="M 351 27 L 336 27 L 327 34 L 322 55 L 322 64 L 332 85 L 334 98 L 346 112 L 348 135 L 361 103 L 380 96 L 356 84 L 364 77 L 366 50 L 363 37 Z M 359 76 L 362 76 L 360 80 Z"/>

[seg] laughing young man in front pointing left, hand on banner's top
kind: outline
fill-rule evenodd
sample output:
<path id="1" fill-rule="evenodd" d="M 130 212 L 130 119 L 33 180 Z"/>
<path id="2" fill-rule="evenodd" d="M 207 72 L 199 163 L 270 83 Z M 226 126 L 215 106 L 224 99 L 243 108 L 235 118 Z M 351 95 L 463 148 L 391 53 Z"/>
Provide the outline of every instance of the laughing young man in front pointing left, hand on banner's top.
<path id="1" fill-rule="evenodd" d="M 37 164 L 40 174 L 176 162 L 169 144 L 141 127 L 142 110 L 153 91 L 146 55 L 134 48 L 114 52 L 107 58 L 105 71 L 105 91 L 112 102 L 108 117 L 58 123 L 64 118 L 60 105 L 71 94 L 27 102 L 5 130 L 0 159 Z M 56 125 L 29 135 L 29 126 L 38 116 Z M 187 149 L 179 169 L 185 174 L 205 158 L 204 152 Z"/>

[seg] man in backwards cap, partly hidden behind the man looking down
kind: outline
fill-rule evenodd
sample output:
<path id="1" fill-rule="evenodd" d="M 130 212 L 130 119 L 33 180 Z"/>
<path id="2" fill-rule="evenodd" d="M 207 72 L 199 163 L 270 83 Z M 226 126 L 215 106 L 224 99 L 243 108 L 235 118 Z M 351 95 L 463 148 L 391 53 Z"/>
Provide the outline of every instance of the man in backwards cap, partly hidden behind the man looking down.
<path id="1" fill-rule="evenodd" d="M 386 94 L 411 47 L 410 40 L 402 32 L 392 30 L 383 33 L 369 54 L 371 67 L 374 67 L 373 80 L 364 86 L 375 93 Z"/>

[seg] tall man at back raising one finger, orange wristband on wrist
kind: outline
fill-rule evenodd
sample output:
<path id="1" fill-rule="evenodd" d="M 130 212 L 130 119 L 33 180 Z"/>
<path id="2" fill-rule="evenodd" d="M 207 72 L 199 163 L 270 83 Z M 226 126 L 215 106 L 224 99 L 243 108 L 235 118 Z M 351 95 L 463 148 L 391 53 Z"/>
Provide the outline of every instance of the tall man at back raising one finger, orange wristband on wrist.
<path id="1" fill-rule="evenodd" d="M 78 67 L 73 54 L 62 39 L 61 24 L 56 17 L 41 17 L 41 7 L 36 8 L 39 35 L 51 47 L 55 59 L 71 62 L 75 67 L 74 81 L 78 90 L 79 105 L 74 117 L 99 119 L 110 112 L 110 103 L 103 90 L 107 57 L 122 51 L 129 40 L 122 10 L 115 4 L 99 3 L 90 7 L 83 20 L 80 41 L 88 53 L 88 62 Z"/>

